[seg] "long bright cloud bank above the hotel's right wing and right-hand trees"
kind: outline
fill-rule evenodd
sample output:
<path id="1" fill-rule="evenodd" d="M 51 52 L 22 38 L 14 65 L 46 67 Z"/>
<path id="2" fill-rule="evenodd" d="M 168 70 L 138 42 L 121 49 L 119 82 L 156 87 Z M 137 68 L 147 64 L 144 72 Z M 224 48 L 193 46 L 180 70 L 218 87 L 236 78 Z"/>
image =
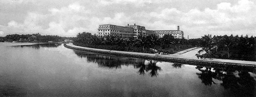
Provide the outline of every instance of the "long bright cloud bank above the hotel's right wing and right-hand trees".
<path id="1" fill-rule="evenodd" d="M 203 11 L 191 9 L 188 12 L 166 8 L 160 12 L 143 13 L 143 18 L 151 18 L 155 21 L 151 24 L 145 23 L 152 29 L 165 29 L 165 27 L 175 29 L 171 26 L 180 25 L 181 30 L 192 37 L 203 34 L 224 35 L 231 32 L 238 35 L 256 35 L 252 33 L 256 31 L 254 2 L 241 0 L 235 5 L 224 2 L 216 6 L 216 9 L 205 8 Z"/>

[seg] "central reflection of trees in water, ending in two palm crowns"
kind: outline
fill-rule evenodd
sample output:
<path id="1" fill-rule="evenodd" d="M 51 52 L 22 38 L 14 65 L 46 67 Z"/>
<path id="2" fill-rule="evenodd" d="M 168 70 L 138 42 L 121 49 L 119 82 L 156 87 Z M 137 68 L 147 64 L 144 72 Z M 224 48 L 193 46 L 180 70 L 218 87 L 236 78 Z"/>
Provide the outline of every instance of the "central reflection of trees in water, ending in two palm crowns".
<path id="1" fill-rule="evenodd" d="M 157 71 L 161 70 L 159 66 L 156 66 L 157 61 L 147 61 L 144 59 L 117 57 L 102 54 L 95 54 L 90 52 L 83 52 L 74 50 L 74 53 L 81 57 L 86 58 L 89 62 L 98 63 L 100 67 L 121 69 L 121 65 L 128 66 L 133 65 L 134 68 L 139 68 L 138 72 L 140 75 L 144 75 L 145 72 L 149 72 L 151 77 L 158 75 Z"/>

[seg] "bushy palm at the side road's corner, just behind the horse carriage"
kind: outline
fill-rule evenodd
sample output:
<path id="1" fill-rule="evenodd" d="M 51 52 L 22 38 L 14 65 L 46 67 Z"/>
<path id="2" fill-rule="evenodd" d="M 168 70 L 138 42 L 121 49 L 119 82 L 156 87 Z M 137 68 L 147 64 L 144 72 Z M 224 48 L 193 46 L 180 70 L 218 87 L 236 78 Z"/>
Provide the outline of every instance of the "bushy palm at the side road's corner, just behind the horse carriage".
<path id="1" fill-rule="evenodd" d="M 205 35 L 202 36 L 202 38 L 199 41 L 199 46 L 202 48 L 202 50 L 199 50 L 198 53 L 201 53 L 203 51 L 206 51 L 207 54 L 211 54 L 211 49 L 215 46 L 216 42 L 214 40 L 215 36 L 212 37 L 212 35 Z"/>

